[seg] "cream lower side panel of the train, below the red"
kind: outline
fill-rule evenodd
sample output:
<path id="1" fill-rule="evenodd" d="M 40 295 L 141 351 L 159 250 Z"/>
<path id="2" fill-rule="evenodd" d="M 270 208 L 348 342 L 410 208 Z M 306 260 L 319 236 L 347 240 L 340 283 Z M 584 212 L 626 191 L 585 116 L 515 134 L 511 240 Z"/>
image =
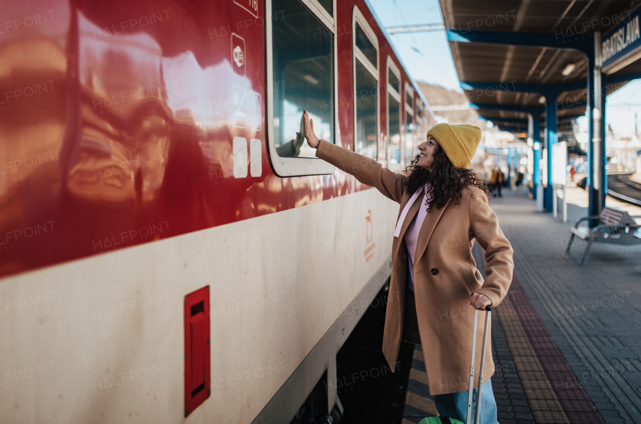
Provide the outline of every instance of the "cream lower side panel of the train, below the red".
<path id="1" fill-rule="evenodd" d="M 388 259 L 397 211 L 365 190 L 0 280 L 2 422 L 251 422 Z M 183 298 L 207 284 L 212 394 L 185 419 Z"/>

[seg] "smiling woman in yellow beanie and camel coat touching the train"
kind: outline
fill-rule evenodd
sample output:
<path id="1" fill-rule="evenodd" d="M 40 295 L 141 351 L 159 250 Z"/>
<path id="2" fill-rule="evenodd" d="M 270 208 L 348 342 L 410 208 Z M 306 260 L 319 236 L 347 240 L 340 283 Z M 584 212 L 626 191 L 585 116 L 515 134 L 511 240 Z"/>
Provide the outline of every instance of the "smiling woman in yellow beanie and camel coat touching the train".
<path id="1" fill-rule="evenodd" d="M 392 244 L 383 354 L 394 370 L 401 339 L 422 342 L 429 393 L 438 412 L 465 421 L 473 311 L 503 300 L 514 268 L 513 250 L 488 205 L 487 187 L 467 169 L 481 140 L 481 129 L 449 124 L 432 127 L 403 175 L 319 140 L 306 111 L 304 122 L 305 138 L 317 149 L 318 158 L 401 204 Z M 485 249 L 485 281 L 472 257 L 474 239 Z M 482 333 L 483 325 L 479 325 L 476 370 Z M 491 343 L 485 358 L 481 423 L 496 424 Z M 474 384 L 476 387 L 477 379 Z"/>

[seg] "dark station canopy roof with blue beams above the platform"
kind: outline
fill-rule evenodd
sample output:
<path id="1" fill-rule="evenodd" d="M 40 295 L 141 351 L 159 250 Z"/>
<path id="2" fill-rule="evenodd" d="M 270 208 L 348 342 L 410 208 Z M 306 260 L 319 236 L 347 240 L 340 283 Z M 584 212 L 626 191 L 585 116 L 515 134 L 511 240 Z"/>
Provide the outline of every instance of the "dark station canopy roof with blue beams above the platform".
<path id="1" fill-rule="evenodd" d="M 594 0 L 440 0 L 465 94 L 470 103 L 480 106 L 481 117 L 511 131 L 527 129 L 528 114 L 522 106 L 539 108 L 540 116 L 544 115 L 545 97 L 522 87 L 514 90 L 518 85 L 567 85 L 556 97 L 559 129 L 585 114 L 588 60 L 583 51 L 574 48 L 581 45 L 585 51 L 590 44 L 594 46 L 594 31 L 606 33 L 630 15 L 634 5 L 630 1 Z M 493 33 L 485 37 L 481 31 Z M 536 45 L 539 34 L 546 41 Z M 638 72 L 641 60 L 610 74 L 607 94 L 637 78 Z M 625 80 L 626 75 L 635 73 L 637 76 Z"/>

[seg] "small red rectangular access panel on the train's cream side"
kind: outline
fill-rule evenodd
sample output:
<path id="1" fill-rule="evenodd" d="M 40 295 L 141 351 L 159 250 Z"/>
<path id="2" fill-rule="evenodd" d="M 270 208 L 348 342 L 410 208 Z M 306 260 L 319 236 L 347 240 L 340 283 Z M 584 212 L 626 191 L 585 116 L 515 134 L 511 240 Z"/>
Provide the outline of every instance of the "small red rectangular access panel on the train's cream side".
<path id="1" fill-rule="evenodd" d="M 212 393 L 209 334 L 209 286 L 205 286 L 185 296 L 185 416 Z"/>

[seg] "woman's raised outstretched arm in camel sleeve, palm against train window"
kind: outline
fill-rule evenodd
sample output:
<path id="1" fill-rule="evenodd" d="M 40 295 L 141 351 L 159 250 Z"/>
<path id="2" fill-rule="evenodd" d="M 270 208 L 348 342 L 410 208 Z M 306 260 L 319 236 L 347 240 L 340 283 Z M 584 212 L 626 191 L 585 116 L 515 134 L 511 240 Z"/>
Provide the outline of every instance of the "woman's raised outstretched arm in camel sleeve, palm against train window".
<path id="1" fill-rule="evenodd" d="M 313 120 L 310 120 L 307 111 L 305 111 L 305 138 L 310 147 L 316 149 L 317 158 L 328 161 L 347 174 L 354 175 L 361 183 L 374 186 L 383 195 L 401 203 L 407 181 L 405 175 L 397 174 L 367 156 L 334 143 L 319 140 L 314 134 Z"/>

